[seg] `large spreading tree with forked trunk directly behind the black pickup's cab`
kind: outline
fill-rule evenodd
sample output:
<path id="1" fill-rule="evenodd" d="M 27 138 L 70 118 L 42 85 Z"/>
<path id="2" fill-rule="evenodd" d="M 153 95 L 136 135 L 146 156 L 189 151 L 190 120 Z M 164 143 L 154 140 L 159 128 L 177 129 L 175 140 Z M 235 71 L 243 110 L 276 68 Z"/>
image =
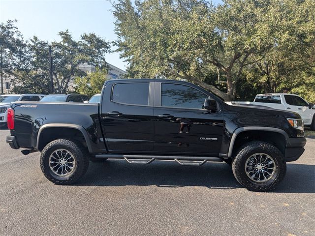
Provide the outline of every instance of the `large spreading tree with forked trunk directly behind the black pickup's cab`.
<path id="1" fill-rule="evenodd" d="M 285 14 L 296 19 L 294 4 L 304 1 L 223 0 L 214 6 L 203 0 L 119 0 L 114 5 L 118 51 L 129 62 L 130 75 L 186 79 L 231 100 L 244 68 L 281 43 L 277 37 L 285 29 L 279 21 Z M 226 91 L 205 83 L 216 69 Z"/>

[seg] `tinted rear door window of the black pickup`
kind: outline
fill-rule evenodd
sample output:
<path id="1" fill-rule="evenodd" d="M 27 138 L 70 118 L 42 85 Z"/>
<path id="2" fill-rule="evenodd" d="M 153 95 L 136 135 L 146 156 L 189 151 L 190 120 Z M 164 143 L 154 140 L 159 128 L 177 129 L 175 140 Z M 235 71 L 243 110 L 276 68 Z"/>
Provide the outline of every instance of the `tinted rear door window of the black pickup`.
<path id="1" fill-rule="evenodd" d="M 149 83 L 114 85 L 112 101 L 131 105 L 149 105 Z"/>

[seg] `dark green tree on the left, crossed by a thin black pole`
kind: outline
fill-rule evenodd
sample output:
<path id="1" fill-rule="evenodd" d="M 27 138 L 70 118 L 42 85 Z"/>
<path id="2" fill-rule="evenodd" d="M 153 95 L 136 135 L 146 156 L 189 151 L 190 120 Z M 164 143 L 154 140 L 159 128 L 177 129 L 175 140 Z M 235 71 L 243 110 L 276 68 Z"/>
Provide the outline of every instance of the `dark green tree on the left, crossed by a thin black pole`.
<path id="1" fill-rule="evenodd" d="M 85 76 L 86 73 L 79 65 L 88 63 L 106 69 L 105 54 L 110 52 L 110 44 L 94 33 L 81 35 L 81 40 L 76 41 L 68 30 L 60 31 L 60 41 L 51 43 L 53 57 L 53 79 L 57 93 L 65 93 L 69 82 L 76 76 Z M 17 77 L 14 81 L 16 91 L 24 90 L 29 85 L 34 85 L 36 90 L 51 92 L 49 88 L 49 44 L 39 40 L 36 36 L 29 44 L 31 70 L 23 77 Z M 44 85 L 44 86 L 43 86 Z"/>

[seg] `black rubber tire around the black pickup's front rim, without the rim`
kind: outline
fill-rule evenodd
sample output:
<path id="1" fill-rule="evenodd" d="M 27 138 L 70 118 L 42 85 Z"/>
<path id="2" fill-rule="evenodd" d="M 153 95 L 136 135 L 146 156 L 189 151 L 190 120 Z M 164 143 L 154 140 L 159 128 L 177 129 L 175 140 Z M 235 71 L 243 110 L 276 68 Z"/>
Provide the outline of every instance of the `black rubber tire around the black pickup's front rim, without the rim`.
<path id="1" fill-rule="evenodd" d="M 265 182 L 256 182 L 247 176 L 245 164 L 247 159 L 255 153 L 265 153 L 274 159 L 275 174 Z M 252 141 L 242 146 L 232 162 L 232 171 L 237 181 L 250 191 L 267 192 L 273 190 L 283 180 L 286 172 L 286 164 L 281 151 L 272 144 L 260 141 Z"/>

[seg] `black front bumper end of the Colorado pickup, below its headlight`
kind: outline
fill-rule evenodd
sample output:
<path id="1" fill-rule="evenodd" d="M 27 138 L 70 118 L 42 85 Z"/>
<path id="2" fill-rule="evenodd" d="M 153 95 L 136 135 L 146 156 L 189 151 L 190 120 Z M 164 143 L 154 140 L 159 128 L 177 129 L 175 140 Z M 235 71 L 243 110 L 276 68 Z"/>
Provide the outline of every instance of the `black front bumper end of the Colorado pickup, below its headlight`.
<path id="1" fill-rule="evenodd" d="M 290 138 L 284 150 L 284 161 L 296 161 L 305 151 L 306 138 Z"/>

